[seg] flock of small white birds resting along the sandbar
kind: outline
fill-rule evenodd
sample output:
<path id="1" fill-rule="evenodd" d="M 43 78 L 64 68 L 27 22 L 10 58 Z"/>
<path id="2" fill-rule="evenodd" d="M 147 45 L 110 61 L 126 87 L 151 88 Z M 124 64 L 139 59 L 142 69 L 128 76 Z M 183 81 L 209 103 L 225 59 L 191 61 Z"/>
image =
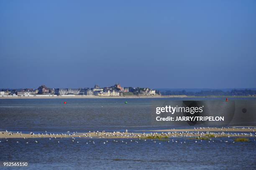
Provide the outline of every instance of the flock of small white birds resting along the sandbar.
<path id="1" fill-rule="evenodd" d="M 202 129 L 202 128 L 200 127 L 200 129 Z M 225 129 L 225 128 L 223 128 L 223 129 Z M 5 134 L 6 134 L 6 137 L 5 137 L 6 141 L 8 141 L 8 139 L 7 139 L 8 136 L 11 136 L 14 134 L 20 135 L 20 136 L 23 135 L 22 132 L 8 132 L 7 130 L 6 130 Z M 71 140 L 72 142 L 77 142 L 77 143 L 79 143 L 79 141 L 81 141 L 81 140 L 78 141 L 78 140 L 76 140 L 76 138 L 85 138 L 85 139 L 87 139 L 87 141 L 85 142 L 86 144 L 89 144 L 89 143 L 95 144 L 95 141 L 92 140 L 93 138 L 107 138 L 109 140 L 111 138 L 114 138 L 113 142 L 121 142 L 121 143 L 125 143 L 125 144 L 128 143 L 128 139 L 130 138 L 131 142 L 135 142 L 135 143 L 138 143 L 139 141 L 148 141 L 148 140 L 150 141 L 151 140 L 154 143 L 157 142 L 157 143 L 161 144 L 161 142 L 165 142 L 165 141 L 167 141 L 169 143 L 170 138 L 172 138 L 172 137 L 173 138 L 198 137 L 199 140 L 195 140 L 194 141 L 195 143 L 203 141 L 203 140 L 200 140 L 200 137 L 207 137 L 208 138 L 207 142 L 209 142 L 209 143 L 214 142 L 213 139 L 215 139 L 217 137 L 228 137 L 228 138 L 229 137 L 241 137 L 241 136 L 256 137 L 256 133 L 254 133 L 254 130 L 253 130 L 253 133 L 252 132 L 240 132 L 239 133 L 239 132 L 207 132 L 207 131 L 205 131 L 205 132 L 196 132 L 196 131 L 188 132 L 188 131 L 185 131 L 185 132 L 161 132 L 158 134 L 157 132 L 150 132 L 150 133 L 144 133 L 144 132 L 143 133 L 133 133 L 133 132 L 131 132 L 131 133 L 128 133 L 128 130 L 126 129 L 125 132 L 105 132 L 105 131 L 90 132 L 89 131 L 88 133 L 84 133 L 84 134 L 78 134 L 77 132 L 70 133 L 69 131 L 67 131 L 67 134 L 64 134 L 64 133 L 54 134 L 54 133 L 47 133 L 45 131 L 45 133 L 38 133 L 38 134 L 34 134 L 33 132 L 30 132 L 29 135 L 31 135 L 31 137 L 34 137 L 34 138 L 49 136 L 49 140 L 57 139 L 58 143 L 60 143 L 60 141 L 58 139 L 61 139 L 63 137 L 65 137 L 65 138 L 69 137 L 72 139 Z M 158 137 L 159 138 L 166 137 L 166 140 L 156 140 Z M 121 140 L 121 138 L 123 138 L 123 140 Z M 151 139 L 147 139 L 147 138 L 151 138 Z M 26 140 L 27 138 L 23 137 L 23 139 Z M 91 140 L 88 141 L 88 139 L 91 139 Z M 120 140 L 118 140 L 118 139 L 120 139 Z M 34 143 L 38 143 L 37 140 L 34 140 Z M 189 140 L 189 141 L 191 141 L 191 140 Z M 223 142 L 222 140 L 218 140 L 218 141 Z M 102 142 L 102 143 L 107 144 L 108 142 L 109 142 L 108 140 L 104 140 L 104 142 Z M 178 141 L 172 139 L 171 142 L 177 143 Z M 228 142 L 228 140 L 224 140 L 224 142 Z M 17 143 L 19 143 L 19 141 L 17 141 Z M 186 141 L 179 141 L 179 143 L 185 144 Z M 233 141 L 233 143 L 234 143 L 234 141 Z M 28 142 L 26 142 L 26 144 L 28 144 Z"/>

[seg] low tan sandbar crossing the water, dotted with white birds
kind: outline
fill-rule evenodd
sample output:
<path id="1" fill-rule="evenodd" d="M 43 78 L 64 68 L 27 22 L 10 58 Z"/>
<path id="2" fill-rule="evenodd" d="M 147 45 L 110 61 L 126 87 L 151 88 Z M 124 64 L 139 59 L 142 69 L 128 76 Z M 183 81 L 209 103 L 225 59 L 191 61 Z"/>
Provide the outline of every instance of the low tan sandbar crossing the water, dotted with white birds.
<path id="1" fill-rule="evenodd" d="M 146 132 L 146 131 L 144 131 Z M 133 132 L 87 132 L 87 133 L 40 133 L 25 134 L 20 132 L 0 132 L 0 138 L 106 138 L 106 139 L 133 139 L 150 137 L 255 137 L 256 129 L 253 128 L 202 128 L 202 129 L 165 129 L 147 131 L 150 133 Z M 239 133 L 240 132 L 240 133 Z"/>

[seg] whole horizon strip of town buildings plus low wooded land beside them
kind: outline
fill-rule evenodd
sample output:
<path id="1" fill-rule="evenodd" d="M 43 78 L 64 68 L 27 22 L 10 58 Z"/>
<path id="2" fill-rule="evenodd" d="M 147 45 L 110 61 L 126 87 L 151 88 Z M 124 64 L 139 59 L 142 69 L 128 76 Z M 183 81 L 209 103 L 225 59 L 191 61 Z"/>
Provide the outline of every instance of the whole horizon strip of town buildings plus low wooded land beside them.
<path id="1" fill-rule="evenodd" d="M 119 83 L 110 87 L 100 87 L 95 84 L 93 88 L 49 88 L 41 85 L 37 89 L 0 89 L 0 97 L 47 97 L 47 96 L 67 96 L 67 97 L 197 97 L 197 96 L 248 96 L 255 97 L 255 89 L 230 89 L 230 90 L 169 90 L 169 89 L 151 89 L 148 87 L 122 87 Z"/>

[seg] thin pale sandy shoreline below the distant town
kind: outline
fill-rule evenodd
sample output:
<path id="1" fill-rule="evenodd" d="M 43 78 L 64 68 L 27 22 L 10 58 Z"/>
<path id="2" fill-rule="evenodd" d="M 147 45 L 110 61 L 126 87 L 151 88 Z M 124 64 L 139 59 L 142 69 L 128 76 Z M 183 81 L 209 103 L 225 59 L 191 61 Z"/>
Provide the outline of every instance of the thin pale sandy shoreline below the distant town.
<path id="1" fill-rule="evenodd" d="M 159 98 L 256 98 L 256 96 L 186 96 L 186 95 L 156 95 L 156 96 L 0 96 L 0 99 L 159 99 Z"/>

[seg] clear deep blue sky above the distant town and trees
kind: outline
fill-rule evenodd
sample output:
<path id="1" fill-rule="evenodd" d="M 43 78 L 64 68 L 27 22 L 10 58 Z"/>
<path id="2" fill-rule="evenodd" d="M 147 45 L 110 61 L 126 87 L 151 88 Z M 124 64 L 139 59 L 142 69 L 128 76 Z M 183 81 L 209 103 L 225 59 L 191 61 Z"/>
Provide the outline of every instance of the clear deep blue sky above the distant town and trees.
<path id="1" fill-rule="evenodd" d="M 117 82 L 256 87 L 256 1 L 0 1 L 0 88 Z"/>

